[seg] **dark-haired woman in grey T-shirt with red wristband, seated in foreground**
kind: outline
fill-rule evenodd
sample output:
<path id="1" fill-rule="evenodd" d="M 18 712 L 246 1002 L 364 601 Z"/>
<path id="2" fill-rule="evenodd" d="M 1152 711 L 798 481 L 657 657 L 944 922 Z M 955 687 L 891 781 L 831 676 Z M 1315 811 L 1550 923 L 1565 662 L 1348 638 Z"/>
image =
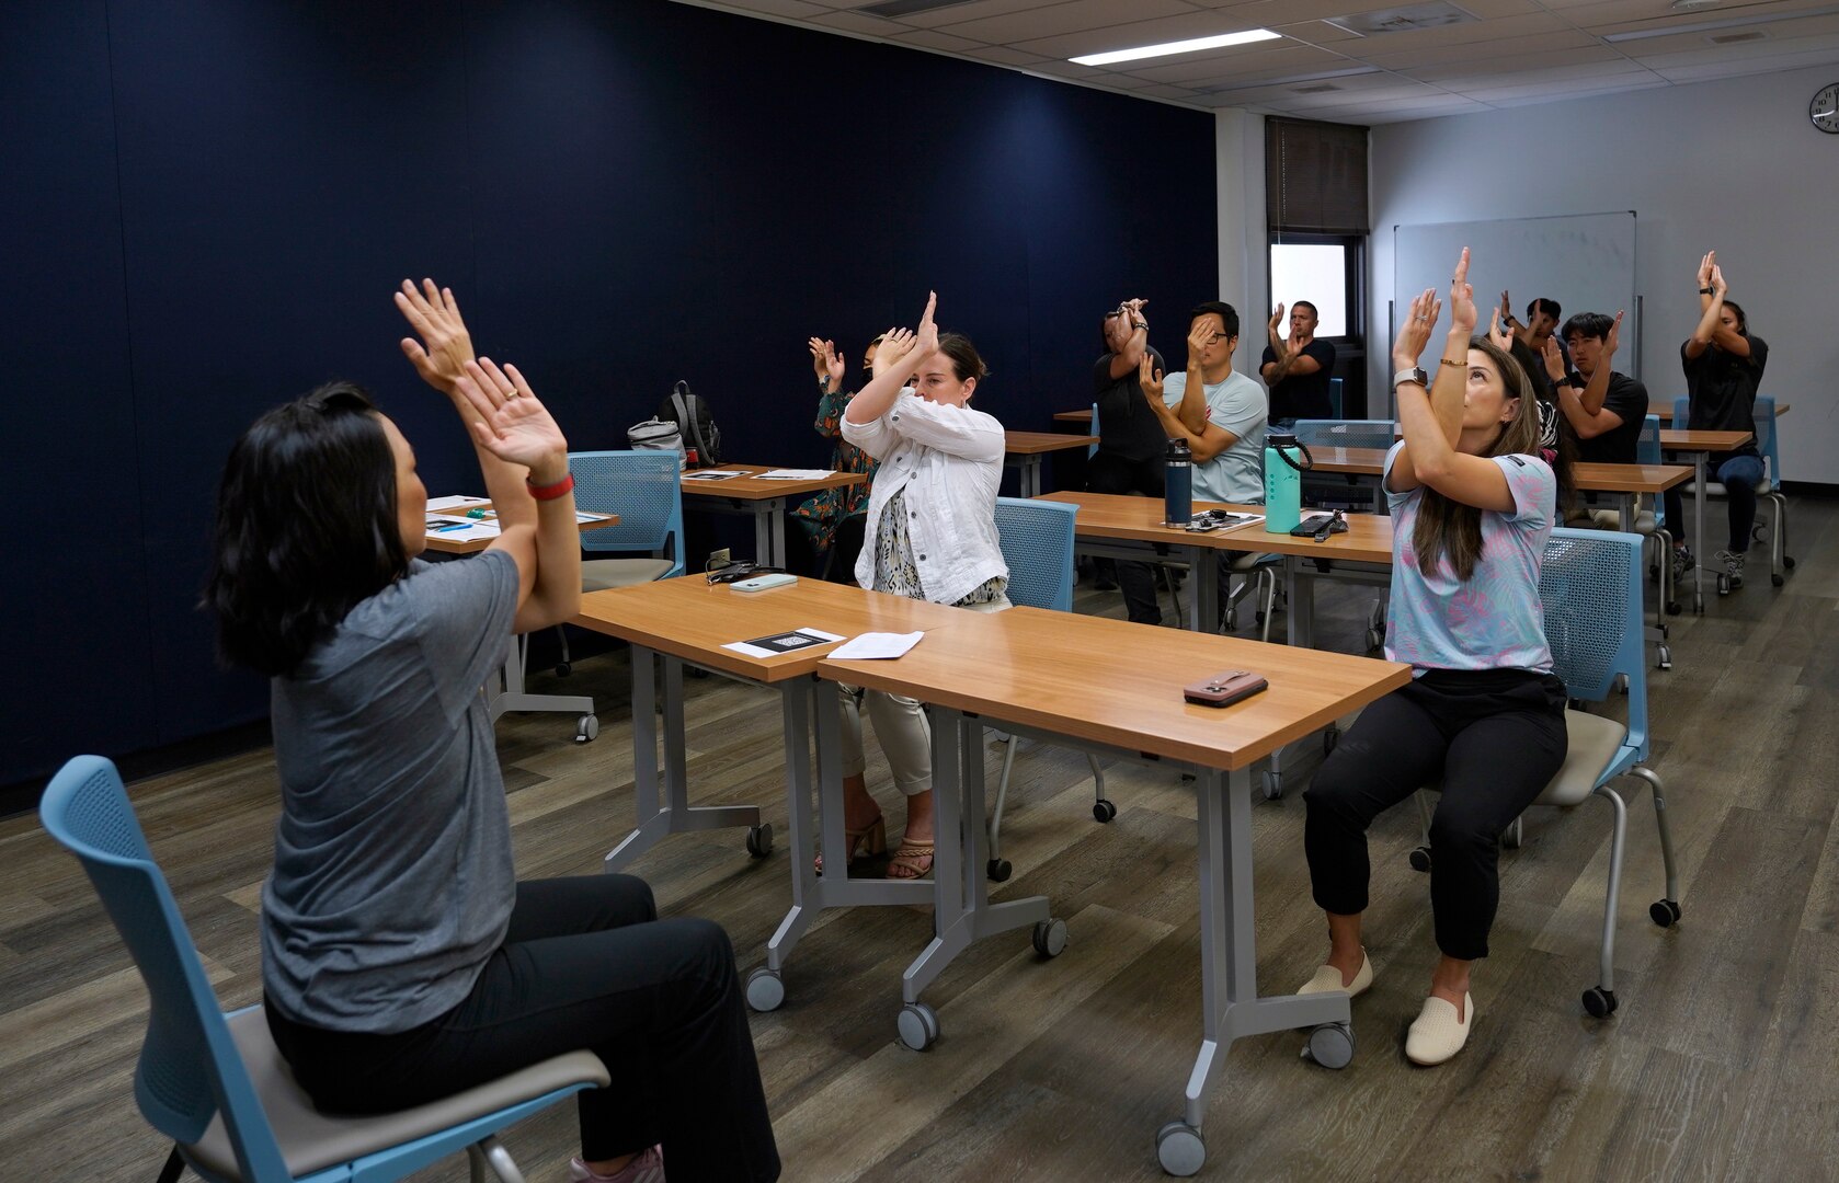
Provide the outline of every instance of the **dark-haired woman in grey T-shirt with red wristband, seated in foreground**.
<path id="1" fill-rule="evenodd" d="M 566 1051 L 572 1179 L 772 1179 L 778 1154 L 734 950 L 658 920 L 636 878 L 517 882 L 482 685 L 513 634 L 570 619 L 581 549 L 568 443 L 515 366 L 473 356 L 452 292 L 405 283 L 403 351 L 473 437 L 502 531 L 417 558 L 427 489 L 349 382 L 230 452 L 204 603 L 226 661 L 270 676 L 281 817 L 263 887 L 263 1003 L 314 1104 L 403 1110 Z"/>

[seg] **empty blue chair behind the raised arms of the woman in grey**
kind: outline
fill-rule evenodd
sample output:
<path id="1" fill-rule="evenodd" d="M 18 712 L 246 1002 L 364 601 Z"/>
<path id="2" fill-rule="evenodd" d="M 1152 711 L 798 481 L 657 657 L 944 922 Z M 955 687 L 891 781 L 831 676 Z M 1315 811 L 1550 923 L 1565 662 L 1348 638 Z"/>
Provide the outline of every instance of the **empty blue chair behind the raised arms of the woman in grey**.
<path id="1" fill-rule="evenodd" d="M 618 525 L 581 535 L 588 558 L 581 564 L 581 590 L 631 588 L 684 573 L 684 490 L 675 452 L 570 452 L 576 505 L 588 513 L 620 514 Z M 594 555 L 629 555 L 594 558 Z M 555 672 L 568 676 L 568 634 L 561 625 L 563 659 Z"/>

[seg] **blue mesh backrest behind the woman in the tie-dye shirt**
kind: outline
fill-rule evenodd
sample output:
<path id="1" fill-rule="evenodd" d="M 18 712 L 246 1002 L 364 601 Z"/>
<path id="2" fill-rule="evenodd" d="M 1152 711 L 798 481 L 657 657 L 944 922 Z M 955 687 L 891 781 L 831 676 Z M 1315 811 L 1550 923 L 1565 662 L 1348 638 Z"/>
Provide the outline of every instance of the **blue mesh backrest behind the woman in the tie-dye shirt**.
<path id="1" fill-rule="evenodd" d="M 1552 672 L 1572 698 L 1602 702 L 1628 676 L 1628 744 L 1648 759 L 1640 535 L 1554 529 L 1539 568 Z"/>

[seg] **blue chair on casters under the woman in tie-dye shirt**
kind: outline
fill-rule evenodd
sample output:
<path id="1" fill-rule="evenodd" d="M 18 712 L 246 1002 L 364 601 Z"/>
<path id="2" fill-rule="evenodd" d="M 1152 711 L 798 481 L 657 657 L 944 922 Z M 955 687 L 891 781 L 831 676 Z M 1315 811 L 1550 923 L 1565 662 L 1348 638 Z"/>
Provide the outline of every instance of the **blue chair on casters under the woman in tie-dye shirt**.
<path id="1" fill-rule="evenodd" d="M 1666 895 L 1648 907 L 1661 928 L 1679 920 L 1679 876 L 1673 843 L 1666 832 L 1666 799 L 1661 777 L 1648 768 L 1648 670 L 1642 661 L 1640 536 L 1594 529 L 1554 529 L 1545 544 L 1539 573 L 1539 599 L 1545 601 L 1545 639 L 1552 647 L 1552 669 L 1563 678 L 1572 702 L 1602 702 L 1628 680 L 1628 724 L 1602 715 L 1567 709 L 1569 749 L 1565 762 L 1534 805 L 1572 808 L 1589 797 L 1602 797 L 1613 810 L 1609 838 L 1609 885 L 1604 902 L 1604 933 L 1598 985 L 1583 992 L 1583 1008 L 1594 1018 L 1615 1012 L 1615 917 L 1622 889 L 1622 847 L 1628 806 L 1609 788 L 1620 777 L 1639 777 L 1653 792 L 1653 817 L 1661 830 L 1661 860 L 1666 867 Z M 1434 786 L 1431 788 L 1434 792 Z M 1429 830 L 1429 801 L 1418 794 Z M 1506 845 L 1519 845 L 1519 821 L 1508 830 Z M 1411 852 L 1411 865 L 1431 869 L 1429 834 L 1425 845 Z"/>

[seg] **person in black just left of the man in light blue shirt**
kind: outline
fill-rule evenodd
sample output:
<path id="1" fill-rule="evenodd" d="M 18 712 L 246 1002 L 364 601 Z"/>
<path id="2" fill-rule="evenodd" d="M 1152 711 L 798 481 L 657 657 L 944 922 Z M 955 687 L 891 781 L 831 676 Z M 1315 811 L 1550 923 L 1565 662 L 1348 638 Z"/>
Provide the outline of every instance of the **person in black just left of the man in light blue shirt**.
<path id="1" fill-rule="evenodd" d="M 1092 400 L 1098 404 L 1098 452 L 1085 467 L 1085 487 L 1091 492 L 1124 492 L 1146 498 L 1162 496 L 1162 421 L 1144 406 L 1137 386 L 1137 369 L 1149 358 L 1162 369 L 1162 355 L 1149 344 L 1149 320 L 1144 316 L 1148 299 L 1125 299 L 1105 312 L 1102 332 L 1105 353 L 1092 366 Z M 1111 560 L 1096 560 L 1098 586 L 1105 590 Z M 1142 562 L 1116 564 L 1116 580 L 1124 588 L 1124 608 L 1133 621 L 1157 625 L 1162 610 L 1155 597 L 1155 573 Z"/>

